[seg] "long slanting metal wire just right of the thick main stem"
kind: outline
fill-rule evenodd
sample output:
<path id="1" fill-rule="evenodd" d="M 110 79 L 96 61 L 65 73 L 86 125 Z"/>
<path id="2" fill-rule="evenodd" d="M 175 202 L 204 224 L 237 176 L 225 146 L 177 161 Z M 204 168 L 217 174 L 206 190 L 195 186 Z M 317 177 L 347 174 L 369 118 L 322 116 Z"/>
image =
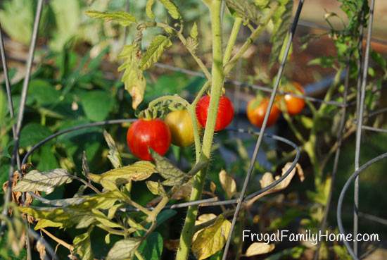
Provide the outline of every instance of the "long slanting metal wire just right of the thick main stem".
<path id="1" fill-rule="evenodd" d="M 239 199 L 238 199 L 238 204 L 236 204 L 236 209 L 235 209 L 234 217 L 232 218 L 232 223 L 231 223 L 231 230 L 229 232 L 229 237 L 227 237 L 226 245 L 224 246 L 224 252 L 223 252 L 222 260 L 226 260 L 227 259 L 227 253 L 229 251 L 229 246 L 230 246 L 232 234 L 234 232 L 234 228 L 235 228 L 235 224 L 236 224 L 236 219 L 238 218 L 239 212 L 241 211 L 243 199 L 246 196 L 246 190 L 247 190 L 248 182 L 250 181 L 251 174 L 254 171 L 255 161 L 256 161 L 257 156 L 258 156 L 258 151 L 260 149 L 260 144 L 262 143 L 263 134 L 265 132 L 266 125 L 267 125 L 267 120 L 269 119 L 269 113 L 272 110 L 272 106 L 274 104 L 274 99 L 275 99 L 275 96 L 277 94 L 279 83 L 281 82 L 282 73 L 284 72 L 285 64 L 286 64 L 286 61 L 287 61 L 287 58 L 288 58 L 288 53 L 289 53 L 289 50 L 291 48 L 291 43 L 293 42 L 293 37 L 294 37 L 294 34 L 296 33 L 298 19 L 300 18 L 300 13 L 301 13 L 301 10 L 303 9 L 303 4 L 304 4 L 304 0 L 300 0 L 298 2 L 298 7 L 297 7 L 296 15 L 294 16 L 293 23 L 291 25 L 291 28 L 289 29 L 289 37 L 288 37 L 288 41 L 286 42 L 286 49 L 284 51 L 284 56 L 282 57 L 281 65 L 279 66 L 279 70 L 278 70 L 278 73 L 277 73 L 277 78 L 276 78 L 276 80 L 274 82 L 274 86 L 273 86 L 273 89 L 272 89 L 272 94 L 271 94 L 270 100 L 269 100 L 269 105 L 267 106 L 267 111 L 265 113 L 265 118 L 264 118 L 263 123 L 262 123 L 262 128 L 260 130 L 260 134 L 258 135 L 258 140 L 255 143 L 255 148 L 254 148 L 253 156 L 251 157 L 250 166 L 248 168 L 248 173 L 247 173 L 246 178 L 245 178 L 245 180 L 243 182 L 243 187 L 242 187 Z"/>

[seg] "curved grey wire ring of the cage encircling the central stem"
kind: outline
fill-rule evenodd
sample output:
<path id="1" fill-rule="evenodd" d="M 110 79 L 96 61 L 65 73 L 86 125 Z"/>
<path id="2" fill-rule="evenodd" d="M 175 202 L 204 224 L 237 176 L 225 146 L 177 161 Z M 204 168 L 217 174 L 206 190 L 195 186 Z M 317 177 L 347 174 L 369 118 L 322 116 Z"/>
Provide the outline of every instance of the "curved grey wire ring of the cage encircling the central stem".
<path id="1" fill-rule="evenodd" d="M 60 135 L 64 135 L 66 133 L 74 132 L 74 131 L 81 130 L 81 129 L 84 129 L 84 128 L 91 128 L 91 127 L 94 127 L 94 126 L 101 126 L 101 125 L 113 125 L 113 124 L 118 124 L 118 123 L 129 123 L 129 122 L 133 122 L 134 120 L 136 120 L 136 119 L 131 118 L 131 119 L 106 120 L 106 121 L 101 121 L 101 122 L 96 122 L 96 123 L 88 123 L 88 124 L 84 124 L 84 125 L 77 125 L 77 126 L 75 126 L 73 128 L 68 128 L 68 129 L 56 132 L 55 134 L 50 135 L 49 137 L 46 137 L 44 140 L 42 140 L 42 141 L 38 142 L 37 144 L 35 144 L 30 149 L 30 151 L 28 151 L 27 154 L 25 154 L 25 156 L 23 158 L 23 161 L 22 161 L 22 165 L 27 162 L 27 159 L 34 153 L 34 151 L 39 149 L 39 147 L 42 147 L 42 145 L 46 144 L 46 142 L 49 142 L 53 138 L 56 138 L 56 137 L 58 137 Z M 227 130 L 234 131 L 234 132 L 248 133 L 250 135 L 259 135 L 259 132 L 255 132 L 255 131 L 252 131 L 252 130 L 241 129 L 241 128 L 238 128 L 238 129 L 229 128 Z M 262 188 L 262 189 L 260 189 L 260 190 L 258 190 L 256 192 L 253 192 L 252 194 L 249 194 L 248 196 L 245 197 L 245 199 L 243 199 L 243 202 L 248 200 L 248 199 L 251 199 L 251 198 L 253 198 L 255 196 L 258 196 L 259 194 L 267 192 L 267 190 L 272 189 L 272 187 L 277 186 L 279 184 L 279 182 L 283 181 L 286 177 L 288 177 L 288 175 L 291 173 L 291 171 L 293 171 L 293 169 L 296 167 L 296 164 L 298 163 L 298 159 L 300 158 L 300 149 L 297 146 L 297 144 L 295 144 L 294 142 L 291 142 L 290 140 L 288 140 L 288 139 L 286 139 L 284 137 L 280 137 L 278 135 L 271 135 L 271 134 L 265 133 L 264 136 L 268 137 L 268 138 L 272 138 L 273 140 L 277 140 L 279 142 L 284 142 L 285 144 L 290 145 L 291 147 L 293 147 L 296 150 L 296 156 L 294 157 L 294 159 L 292 161 L 292 164 L 288 168 L 286 173 L 281 175 L 281 177 L 278 180 L 275 180 L 270 185 L 267 185 L 267 187 L 264 187 L 264 188 Z M 36 194 L 33 194 L 33 193 L 30 193 L 30 194 L 32 195 L 32 197 L 38 199 L 40 202 L 42 202 L 44 204 L 50 204 L 50 202 L 51 202 L 48 199 L 40 197 L 40 196 L 38 196 Z M 239 202 L 239 199 L 228 199 L 228 200 L 224 200 L 224 201 L 217 201 L 216 198 L 210 198 L 210 199 L 200 199 L 200 200 L 196 200 L 194 202 L 183 202 L 183 203 L 179 203 L 179 204 L 168 205 L 168 206 L 165 207 L 165 209 L 178 209 L 178 208 L 184 208 L 184 207 L 187 207 L 187 206 L 200 205 L 200 204 L 203 204 L 201 206 L 220 206 L 220 205 L 236 204 L 238 202 Z"/>

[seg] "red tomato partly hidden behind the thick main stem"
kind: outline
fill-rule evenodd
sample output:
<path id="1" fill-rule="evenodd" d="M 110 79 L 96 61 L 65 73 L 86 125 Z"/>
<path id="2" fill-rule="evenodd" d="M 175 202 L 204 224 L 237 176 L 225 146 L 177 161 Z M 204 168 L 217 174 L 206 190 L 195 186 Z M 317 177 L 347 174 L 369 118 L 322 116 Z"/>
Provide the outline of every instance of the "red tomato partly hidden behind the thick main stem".
<path id="1" fill-rule="evenodd" d="M 203 96 L 196 105 L 196 117 L 203 128 L 207 122 L 208 106 L 210 106 L 210 96 L 208 95 Z M 220 97 L 215 132 L 226 128 L 231 123 L 232 118 L 234 118 L 234 106 L 229 98 L 225 96 Z"/>

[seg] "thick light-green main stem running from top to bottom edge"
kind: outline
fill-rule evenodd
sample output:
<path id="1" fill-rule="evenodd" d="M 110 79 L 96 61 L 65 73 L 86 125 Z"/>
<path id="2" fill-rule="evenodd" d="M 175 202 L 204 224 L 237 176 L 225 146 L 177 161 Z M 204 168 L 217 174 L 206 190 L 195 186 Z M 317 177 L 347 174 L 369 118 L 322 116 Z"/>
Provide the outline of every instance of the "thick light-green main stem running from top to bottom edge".
<path id="1" fill-rule="evenodd" d="M 217 118 L 217 108 L 219 105 L 220 96 L 224 82 L 223 72 L 223 55 L 222 55 L 222 27 L 220 22 L 221 0 L 212 0 L 209 5 L 212 27 L 212 87 L 210 91 L 210 106 L 208 108 L 208 118 L 205 124 L 203 146 L 201 156 L 209 159 L 214 137 L 215 123 Z M 200 171 L 194 177 L 194 183 L 191 192 L 191 201 L 201 198 L 203 184 L 207 171 Z M 180 235 L 179 249 L 177 250 L 177 260 L 188 259 L 191 249 L 192 237 L 194 235 L 194 226 L 196 216 L 198 214 L 198 206 L 190 206 L 184 222 L 182 234 Z"/>

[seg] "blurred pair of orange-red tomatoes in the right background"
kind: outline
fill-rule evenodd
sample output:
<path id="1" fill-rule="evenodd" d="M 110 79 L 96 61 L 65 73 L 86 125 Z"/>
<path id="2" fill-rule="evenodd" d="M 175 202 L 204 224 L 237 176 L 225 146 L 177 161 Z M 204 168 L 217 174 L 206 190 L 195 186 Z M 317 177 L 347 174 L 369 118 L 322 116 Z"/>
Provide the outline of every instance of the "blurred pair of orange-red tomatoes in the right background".
<path id="1" fill-rule="evenodd" d="M 303 87 L 298 82 L 293 82 L 291 87 L 286 87 L 284 89 L 286 92 L 295 93 L 295 94 L 304 94 Z M 303 111 L 305 107 L 305 100 L 300 97 L 294 97 L 291 94 L 285 94 L 283 97 L 279 97 L 277 99 L 272 109 L 269 112 L 269 118 L 267 120 L 267 126 L 272 126 L 277 122 L 279 116 L 281 115 L 281 102 L 284 101 L 285 108 L 287 113 L 290 116 L 296 116 L 301 111 Z M 257 97 L 248 102 L 247 105 L 247 118 L 253 125 L 258 128 L 262 127 L 263 119 L 265 118 L 265 114 L 267 111 L 267 107 L 269 106 L 269 99 Z"/>

